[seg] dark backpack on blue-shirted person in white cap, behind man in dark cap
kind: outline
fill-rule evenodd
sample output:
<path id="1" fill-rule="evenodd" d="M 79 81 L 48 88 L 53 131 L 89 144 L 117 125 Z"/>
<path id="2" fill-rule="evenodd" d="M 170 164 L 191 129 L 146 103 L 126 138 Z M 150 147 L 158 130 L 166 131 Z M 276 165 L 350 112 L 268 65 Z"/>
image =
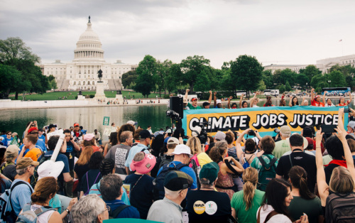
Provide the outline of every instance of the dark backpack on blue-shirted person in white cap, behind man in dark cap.
<path id="1" fill-rule="evenodd" d="M 173 164 L 173 167 L 170 167 L 169 165 Z M 179 163 L 178 165 L 175 165 L 175 163 L 168 163 L 167 165 L 163 165 L 163 169 L 160 171 L 159 175 L 153 180 L 153 198 L 155 200 L 162 200 L 165 196 L 165 191 L 164 191 L 164 179 L 165 176 L 171 171 L 171 170 L 180 170 L 184 166 L 188 166 L 183 163 Z"/>

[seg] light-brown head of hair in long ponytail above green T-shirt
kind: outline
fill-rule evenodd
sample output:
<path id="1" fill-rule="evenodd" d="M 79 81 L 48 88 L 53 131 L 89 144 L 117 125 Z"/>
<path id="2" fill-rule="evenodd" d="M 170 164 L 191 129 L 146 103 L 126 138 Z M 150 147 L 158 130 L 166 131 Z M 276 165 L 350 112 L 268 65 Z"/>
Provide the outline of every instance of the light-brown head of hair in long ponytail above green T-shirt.
<path id="1" fill-rule="evenodd" d="M 243 173 L 243 200 L 246 204 L 245 210 L 249 210 L 253 205 L 256 183 L 258 183 L 258 170 L 255 168 L 246 168 Z"/>

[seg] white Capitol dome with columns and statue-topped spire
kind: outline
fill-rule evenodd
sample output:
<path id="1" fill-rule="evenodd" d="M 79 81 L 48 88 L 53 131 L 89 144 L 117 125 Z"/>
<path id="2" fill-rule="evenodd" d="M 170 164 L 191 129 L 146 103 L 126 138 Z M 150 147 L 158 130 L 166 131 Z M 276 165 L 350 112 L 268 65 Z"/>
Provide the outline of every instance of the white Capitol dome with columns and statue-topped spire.
<path id="1" fill-rule="evenodd" d="M 104 61 L 104 50 L 97 33 L 92 30 L 92 23 L 87 23 L 87 29 L 80 35 L 77 41 L 77 48 L 74 50 L 73 61 Z"/>

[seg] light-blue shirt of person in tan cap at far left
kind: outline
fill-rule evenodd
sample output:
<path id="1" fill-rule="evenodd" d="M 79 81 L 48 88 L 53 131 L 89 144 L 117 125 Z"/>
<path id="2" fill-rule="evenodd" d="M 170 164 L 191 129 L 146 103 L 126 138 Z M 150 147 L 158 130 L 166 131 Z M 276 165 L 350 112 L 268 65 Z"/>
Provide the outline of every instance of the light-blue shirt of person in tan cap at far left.
<path id="1" fill-rule="evenodd" d="M 23 180 L 18 180 L 18 179 L 13 180 L 11 186 L 17 183 L 18 181 L 23 181 Z M 23 206 L 31 202 L 31 195 L 33 193 L 33 188 L 31 187 L 31 185 L 26 181 L 23 182 L 25 184 L 17 185 L 15 188 L 13 188 L 10 195 L 11 203 L 13 205 L 13 211 L 16 213 L 16 215 L 18 215 L 21 212 Z M 9 206 L 11 205 L 7 205 L 7 207 Z"/>

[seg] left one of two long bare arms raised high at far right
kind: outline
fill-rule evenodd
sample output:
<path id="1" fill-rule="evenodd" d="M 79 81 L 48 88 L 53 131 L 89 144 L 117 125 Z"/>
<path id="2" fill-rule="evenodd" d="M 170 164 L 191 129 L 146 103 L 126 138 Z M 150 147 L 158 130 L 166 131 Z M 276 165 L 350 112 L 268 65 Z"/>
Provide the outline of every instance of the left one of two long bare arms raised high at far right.
<path id="1" fill-rule="evenodd" d="M 325 207 L 325 201 L 329 195 L 327 181 L 325 180 L 325 173 L 323 168 L 322 148 L 320 146 L 323 138 L 322 129 L 317 131 L 315 136 L 315 163 L 317 165 L 317 186 L 320 193 L 320 200 L 322 206 Z"/>

